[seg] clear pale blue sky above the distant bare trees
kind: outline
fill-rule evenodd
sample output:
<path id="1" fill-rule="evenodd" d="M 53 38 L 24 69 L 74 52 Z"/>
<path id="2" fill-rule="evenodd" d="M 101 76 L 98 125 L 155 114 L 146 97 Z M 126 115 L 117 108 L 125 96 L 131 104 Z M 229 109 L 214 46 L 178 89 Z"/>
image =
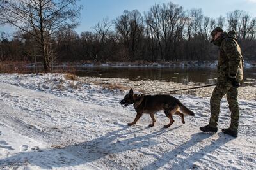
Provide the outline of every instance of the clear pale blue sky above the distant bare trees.
<path id="1" fill-rule="evenodd" d="M 124 10 L 139 10 L 141 13 L 148 11 L 156 3 L 168 3 L 169 0 L 81 0 L 83 5 L 81 24 L 76 28 L 80 34 L 89 31 L 90 28 L 103 18 L 115 19 L 122 15 Z M 256 17 L 256 0 L 173 0 L 172 3 L 179 4 L 184 10 L 202 8 L 204 15 L 209 17 L 225 16 L 228 11 L 243 10 Z M 10 27 L 1 27 L 0 31 L 10 31 Z"/>

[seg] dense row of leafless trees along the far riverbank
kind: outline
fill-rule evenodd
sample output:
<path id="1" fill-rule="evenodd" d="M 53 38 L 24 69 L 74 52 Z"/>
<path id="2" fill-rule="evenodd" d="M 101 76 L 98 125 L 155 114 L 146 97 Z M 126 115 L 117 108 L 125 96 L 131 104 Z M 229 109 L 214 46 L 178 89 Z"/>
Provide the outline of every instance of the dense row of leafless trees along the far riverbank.
<path id="1" fill-rule="evenodd" d="M 217 26 L 227 31 L 234 29 L 244 58 L 256 60 L 256 17 L 236 10 L 214 19 L 204 16 L 200 9 L 186 11 L 182 6 L 167 3 L 155 4 L 143 14 L 125 10 L 113 21 L 102 20 L 93 31 L 59 31 L 51 36 L 50 61 L 216 60 L 218 49 L 209 39 L 211 30 Z M 33 61 L 38 55 L 36 48 L 30 34 L 17 32 L 10 41 L 1 37 L 0 57 L 2 61 Z"/>

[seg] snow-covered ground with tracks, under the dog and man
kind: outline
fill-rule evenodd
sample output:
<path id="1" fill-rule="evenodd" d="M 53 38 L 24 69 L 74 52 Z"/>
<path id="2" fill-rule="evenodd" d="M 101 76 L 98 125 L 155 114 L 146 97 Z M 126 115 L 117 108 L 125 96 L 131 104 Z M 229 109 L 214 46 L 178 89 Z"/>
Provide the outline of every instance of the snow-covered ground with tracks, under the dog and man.
<path id="1" fill-rule="evenodd" d="M 239 136 L 232 138 L 220 130 L 230 123 L 226 99 L 216 134 L 200 132 L 209 97 L 195 94 L 174 95 L 195 112 L 184 125 L 174 117 L 164 129 L 168 118 L 160 112 L 154 127 L 148 115 L 128 127 L 136 113 L 118 104 L 125 91 L 89 79 L 0 74 L 0 169 L 256 169 L 253 94 L 239 100 Z M 144 82 L 148 89 L 150 82 Z"/>

